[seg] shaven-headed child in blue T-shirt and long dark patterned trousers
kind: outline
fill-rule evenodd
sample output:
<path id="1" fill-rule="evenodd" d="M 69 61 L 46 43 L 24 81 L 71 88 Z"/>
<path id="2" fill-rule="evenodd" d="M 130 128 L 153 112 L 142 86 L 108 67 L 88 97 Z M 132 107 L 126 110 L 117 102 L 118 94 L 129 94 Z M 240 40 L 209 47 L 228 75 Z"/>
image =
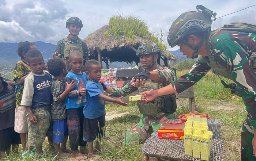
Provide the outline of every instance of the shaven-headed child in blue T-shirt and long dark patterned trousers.
<path id="1" fill-rule="evenodd" d="M 88 153 L 89 150 L 85 148 L 86 143 L 83 141 L 83 108 L 86 104 L 86 90 L 87 75 L 82 72 L 83 69 L 83 55 L 80 51 L 72 51 L 69 54 L 69 65 L 71 70 L 65 78 L 65 82 L 71 84 L 72 81 L 76 83 L 76 87 L 67 95 L 67 124 L 69 135 L 69 147 L 73 151 L 72 156 L 78 160 L 87 159 L 83 154 Z M 80 145 L 80 152 L 78 146 Z"/>

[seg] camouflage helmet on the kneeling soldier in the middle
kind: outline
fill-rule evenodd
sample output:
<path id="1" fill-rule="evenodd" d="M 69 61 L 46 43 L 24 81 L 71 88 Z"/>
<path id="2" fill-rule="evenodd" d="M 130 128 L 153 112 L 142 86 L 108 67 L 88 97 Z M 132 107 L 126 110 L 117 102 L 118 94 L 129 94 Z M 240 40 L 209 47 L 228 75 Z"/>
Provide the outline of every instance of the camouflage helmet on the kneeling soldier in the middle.
<path id="1" fill-rule="evenodd" d="M 146 54 L 158 54 L 161 56 L 160 47 L 154 42 L 145 42 L 138 47 L 137 56 Z"/>

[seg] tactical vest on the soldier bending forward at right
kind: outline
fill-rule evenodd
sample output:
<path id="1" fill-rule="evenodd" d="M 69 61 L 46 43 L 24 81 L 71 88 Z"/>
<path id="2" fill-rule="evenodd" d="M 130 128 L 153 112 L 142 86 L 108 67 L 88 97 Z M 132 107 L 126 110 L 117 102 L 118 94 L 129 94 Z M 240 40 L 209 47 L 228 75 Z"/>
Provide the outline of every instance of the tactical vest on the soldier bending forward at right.
<path id="1" fill-rule="evenodd" d="M 220 30 L 229 30 L 229 31 L 238 31 L 238 32 L 246 32 L 246 33 L 256 34 L 256 24 L 244 23 L 244 22 L 232 22 L 230 24 L 225 24 L 223 27 L 218 28 L 217 30 L 211 31 L 206 39 L 206 50 L 207 50 L 209 60 L 207 61 L 201 55 L 198 56 L 198 60 L 200 62 L 203 62 L 203 63 L 207 62 L 208 66 L 211 67 L 211 70 L 213 73 L 221 75 L 225 78 L 229 78 L 230 80 L 232 80 L 232 77 L 230 74 L 231 71 L 229 71 L 229 69 L 228 69 L 229 66 L 228 65 L 226 65 L 226 66 L 219 65 L 217 63 L 215 50 L 210 49 L 212 37 Z M 256 72 L 256 59 L 251 59 L 251 61 L 253 62 L 253 70 Z"/>

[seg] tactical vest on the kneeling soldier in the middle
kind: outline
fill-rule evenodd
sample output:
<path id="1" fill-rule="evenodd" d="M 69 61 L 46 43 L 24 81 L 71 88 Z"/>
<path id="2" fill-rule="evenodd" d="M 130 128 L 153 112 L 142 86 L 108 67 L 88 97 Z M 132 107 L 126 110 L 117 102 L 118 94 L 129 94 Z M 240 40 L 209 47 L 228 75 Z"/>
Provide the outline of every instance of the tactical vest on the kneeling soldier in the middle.
<path id="1" fill-rule="evenodd" d="M 148 79 L 145 84 L 139 87 L 139 93 L 145 91 L 153 91 L 156 89 L 159 89 L 159 83 L 154 83 L 150 79 Z M 148 103 L 137 101 L 137 105 L 139 107 L 140 113 L 146 116 L 157 116 L 158 113 L 161 111 L 162 106 L 160 97 L 157 97 L 155 100 Z"/>

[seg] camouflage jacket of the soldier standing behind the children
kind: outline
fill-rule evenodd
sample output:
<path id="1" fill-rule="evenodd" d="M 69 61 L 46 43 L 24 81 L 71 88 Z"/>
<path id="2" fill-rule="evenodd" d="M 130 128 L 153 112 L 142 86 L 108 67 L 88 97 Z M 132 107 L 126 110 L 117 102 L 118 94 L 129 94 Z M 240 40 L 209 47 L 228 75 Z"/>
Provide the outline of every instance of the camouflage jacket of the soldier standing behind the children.
<path id="1" fill-rule="evenodd" d="M 77 44 L 79 38 L 76 41 L 71 40 L 71 38 L 68 35 L 68 41 L 71 44 Z M 61 39 L 60 41 L 57 42 L 56 49 L 55 49 L 55 54 L 58 55 L 58 57 L 62 58 L 64 54 L 64 49 L 65 49 L 65 43 L 64 40 Z M 82 49 L 83 49 L 83 55 L 84 55 L 84 60 L 89 60 L 89 55 L 88 55 L 88 47 L 85 42 L 82 42 Z"/>

